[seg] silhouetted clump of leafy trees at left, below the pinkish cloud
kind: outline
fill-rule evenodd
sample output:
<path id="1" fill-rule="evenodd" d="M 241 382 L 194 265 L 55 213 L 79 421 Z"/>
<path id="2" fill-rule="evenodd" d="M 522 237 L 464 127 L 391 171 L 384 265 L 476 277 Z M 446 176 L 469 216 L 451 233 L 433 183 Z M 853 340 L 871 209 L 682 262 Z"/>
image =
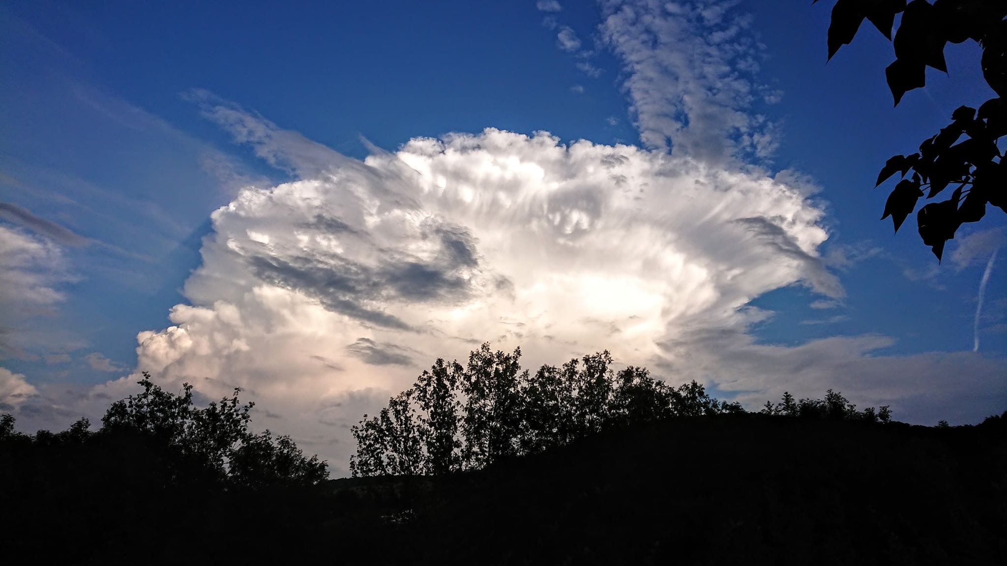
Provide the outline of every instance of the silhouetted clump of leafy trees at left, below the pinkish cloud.
<path id="1" fill-rule="evenodd" d="M 15 420 L 0 418 L 0 442 L 29 457 L 50 447 L 59 453 L 89 454 L 104 463 L 120 461 L 124 468 L 147 467 L 143 473 L 160 487 L 201 484 L 224 488 L 261 489 L 311 485 L 328 477 L 317 456 L 306 457 L 289 436 L 274 437 L 250 430 L 255 403 L 243 404 L 240 388 L 231 397 L 197 407 L 192 386 L 180 394 L 163 390 L 144 372 L 141 391 L 116 401 L 91 431 L 88 419 L 69 429 L 38 431 L 33 437 L 14 430 Z M 99 456 L 100 455 L 100 456 Z"/>

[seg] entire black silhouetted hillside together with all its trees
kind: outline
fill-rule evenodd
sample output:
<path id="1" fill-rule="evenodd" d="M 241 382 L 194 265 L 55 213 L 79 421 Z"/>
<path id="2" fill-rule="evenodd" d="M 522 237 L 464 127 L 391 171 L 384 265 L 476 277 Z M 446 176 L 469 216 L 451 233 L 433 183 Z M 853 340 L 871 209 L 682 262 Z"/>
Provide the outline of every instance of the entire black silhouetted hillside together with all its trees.
<path id="1" fill-rule="evenodd" d="M 249 431 L 236 392 L 143 391 L 103 426 L 0 418 L 4 557 L 38 564 L 1001 564 L 1007 413 L 909 426 L 838 392 L 758 413 L 607 352 L 437 361 L 354 470 Z"/>

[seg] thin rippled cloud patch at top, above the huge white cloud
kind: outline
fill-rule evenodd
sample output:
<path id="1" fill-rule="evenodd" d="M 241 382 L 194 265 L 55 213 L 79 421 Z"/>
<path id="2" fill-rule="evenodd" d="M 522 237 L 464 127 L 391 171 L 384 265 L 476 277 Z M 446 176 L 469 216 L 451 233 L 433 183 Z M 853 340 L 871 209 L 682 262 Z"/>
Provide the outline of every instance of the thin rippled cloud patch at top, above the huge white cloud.
<path id="1" fill-rule="evenodd" d="M 771 156 L 777 128 L 751 112 L 764 91 L 755 81 L 763 47 L 736 2 L 601 3 L 602 35 L 623 60 L 644 145 L 711 164 Z"/>

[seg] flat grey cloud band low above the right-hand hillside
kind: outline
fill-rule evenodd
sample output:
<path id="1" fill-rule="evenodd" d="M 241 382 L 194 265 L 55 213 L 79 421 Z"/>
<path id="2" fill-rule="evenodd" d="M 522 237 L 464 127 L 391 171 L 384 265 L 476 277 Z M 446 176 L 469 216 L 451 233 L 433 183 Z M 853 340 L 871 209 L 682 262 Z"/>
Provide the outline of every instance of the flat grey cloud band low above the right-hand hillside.
<path id="1" fill-rule="evenodd" d="M 971 351 L 877 353 L 894 343 L 877 335 L 835 336 L 797 346 L 759 344 L 739 333 L 694 336 L 670 344 L 688 348 L 683 355 L 688 351 L 691 358 L 668 370 L 713 379 L 752 407 L 778 399 L 784 391 L 821 397 L 832 388 L 861 406 L 891 405 L 895 418 L 914 423 L 975 423 L 1003 411 L 1003 359 Z"/>

